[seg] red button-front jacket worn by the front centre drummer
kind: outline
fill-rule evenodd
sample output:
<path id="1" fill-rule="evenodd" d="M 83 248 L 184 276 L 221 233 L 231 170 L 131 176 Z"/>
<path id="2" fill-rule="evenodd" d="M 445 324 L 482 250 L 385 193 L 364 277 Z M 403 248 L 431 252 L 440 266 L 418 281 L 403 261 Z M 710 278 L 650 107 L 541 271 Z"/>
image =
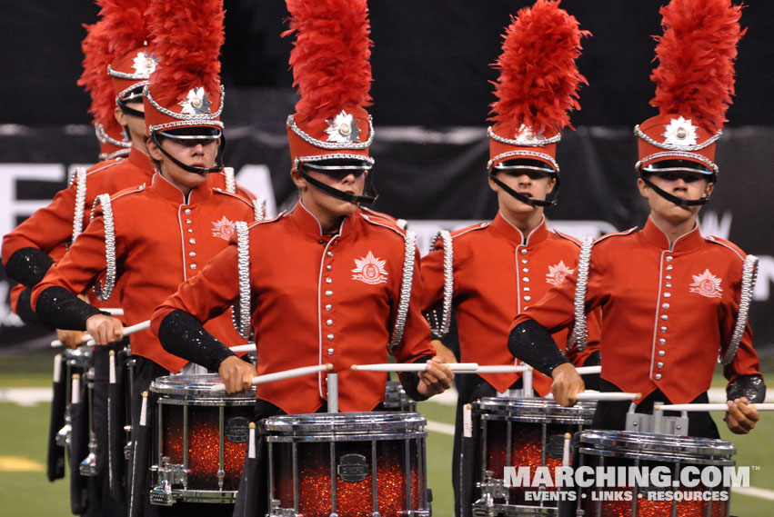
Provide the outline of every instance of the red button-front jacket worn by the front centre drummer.
<path id="1" fill-rule="evenodd" d="M 386 363 L 405 256 L 403 231 L 386 218 L 357 211 L 336 235 L 322 235 L 303 204 L 292 214 L 251 226 L 250 287 L 258 373 L 333 363 L 341 411 L 370 411 L 384 400 L 387 373 L 352 372 L 360 363 Z M 270 243 L 266 246 L 266 243 Z M 180 286 L 154 314 L 152 329 L 182 309 L 205 322 L 239 294 L 237 246 Z M 435 355 L 419 311 L 415 269 L 400 362 Z M 416 302 L 415 302 L 416 301 Z M 327 398 L 323 375 L 259 384 L 256 395 L 289 414 L 314 413 Z"/>

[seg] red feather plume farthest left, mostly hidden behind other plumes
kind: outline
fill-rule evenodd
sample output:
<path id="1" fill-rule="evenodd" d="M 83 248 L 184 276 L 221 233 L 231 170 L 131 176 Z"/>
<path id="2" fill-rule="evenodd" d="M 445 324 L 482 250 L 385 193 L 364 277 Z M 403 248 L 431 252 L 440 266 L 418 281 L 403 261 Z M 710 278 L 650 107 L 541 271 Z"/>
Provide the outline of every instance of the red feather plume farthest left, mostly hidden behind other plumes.
<path id="1" fill-rule="evenodd" d="M 86 37 L 81 43 L 84 72 L 78 79 L 78 85 L 91 94 L 89 113 L 94 115 L 95 123 L 111 127 L 114 124 L 117 126 L 118 123 L 113 114 L 116 109 L 116 94 L 110 75 L 107 75 L 107 65 L 110 65 L 113 55 L 107 52 L 111 34 L 106 30 L 106 25 L 104 20 L 94 25 L 84 25 Z"/>

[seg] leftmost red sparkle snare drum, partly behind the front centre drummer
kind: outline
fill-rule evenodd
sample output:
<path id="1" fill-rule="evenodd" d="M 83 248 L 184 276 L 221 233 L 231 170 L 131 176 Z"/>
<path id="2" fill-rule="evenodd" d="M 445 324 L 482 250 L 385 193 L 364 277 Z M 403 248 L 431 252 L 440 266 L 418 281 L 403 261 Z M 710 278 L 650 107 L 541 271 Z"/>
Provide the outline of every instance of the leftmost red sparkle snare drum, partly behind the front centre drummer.
<path id="1" fill-rule="evenodd" d="M 256 393 L 212 393 L 219 381 L 212 373 L 151 383 L 157 397 L 154 504 L 236 502 Z"/>

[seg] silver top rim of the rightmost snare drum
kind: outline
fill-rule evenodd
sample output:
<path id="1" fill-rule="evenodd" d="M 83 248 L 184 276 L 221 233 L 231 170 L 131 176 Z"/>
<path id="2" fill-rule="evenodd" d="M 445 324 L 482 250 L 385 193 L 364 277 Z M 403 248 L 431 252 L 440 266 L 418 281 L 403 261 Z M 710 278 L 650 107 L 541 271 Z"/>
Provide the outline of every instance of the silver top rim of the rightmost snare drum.
<path id="1" fill-rule="evenodd" d="M 578 434 L 578 446 L 589 445 L 592 449 L 607 447 L 616 452 L 671 452 L 686 457 L 709 458 L 733 456 L 737 450 L 733 443 L 715 438 L 677 436 L 657 432 L 610 431 L 587 429 Z M 604 449 L 608 450 L 608 449 Z"/>

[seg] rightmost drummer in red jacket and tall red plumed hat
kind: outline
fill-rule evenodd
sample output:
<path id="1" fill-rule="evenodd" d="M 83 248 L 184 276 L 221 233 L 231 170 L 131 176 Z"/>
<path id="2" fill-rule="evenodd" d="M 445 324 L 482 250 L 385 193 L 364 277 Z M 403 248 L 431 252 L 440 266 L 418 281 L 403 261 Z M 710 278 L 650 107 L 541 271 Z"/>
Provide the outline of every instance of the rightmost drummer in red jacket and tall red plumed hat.
<path id="1" fill-rule="evenodd" d="M 716 360 L 729 380 L 732 432 L 759 419 L 749 403 L 766 389 L 747 323 L 756 258 L 699 233 L 697 214 L 718 180 L 715 142 L 733 93 L 733 60 L 744 33 L 729 0 L 672 0 L 662 7 L 657 84 L 659 114 L 635 128 L 639 193 L 650 215 L 637 231 L 608 234 L 584 246 L 578 272 L 522 310 L 508 347 L 552 373 L 559 403 L 575 401 L 583 381 L 548 329 L 602 310 L 602 391 L 642 393 L 654 402 L 707 402 Z M 623 429 L 628 403 L 598 403 L 593 427 Z M 709 413 L 689 413 L 689 434 L 718 437 Z"/>

